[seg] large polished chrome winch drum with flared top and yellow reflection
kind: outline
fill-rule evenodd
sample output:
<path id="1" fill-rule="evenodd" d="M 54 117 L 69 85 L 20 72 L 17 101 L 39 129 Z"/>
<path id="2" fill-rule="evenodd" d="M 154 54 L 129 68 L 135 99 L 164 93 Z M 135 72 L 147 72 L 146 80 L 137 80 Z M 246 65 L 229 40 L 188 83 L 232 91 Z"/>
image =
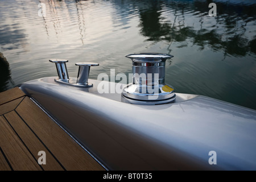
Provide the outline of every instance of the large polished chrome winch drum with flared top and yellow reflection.
<path id="1" fill-rule="evenodd" d="M 175 102 L 172 86 L 164 82 L 166 60 L 174 57 L 165 53 L 134 53 L 133 83 L 123 88 L 122 97 L 131 104 L 156 105 Z"/>

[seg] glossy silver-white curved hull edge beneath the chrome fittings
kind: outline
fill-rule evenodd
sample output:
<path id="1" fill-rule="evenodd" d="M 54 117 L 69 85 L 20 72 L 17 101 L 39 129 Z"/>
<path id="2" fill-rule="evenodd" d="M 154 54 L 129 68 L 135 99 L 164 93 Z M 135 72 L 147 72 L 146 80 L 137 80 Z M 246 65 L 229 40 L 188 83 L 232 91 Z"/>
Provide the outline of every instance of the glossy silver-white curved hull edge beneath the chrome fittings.
<path id="1" fill-rule="evenodd" d="M 89 81 L 92 88 L 76 88 L 47 77 L 20 89 L 105 168 L 256 169 L 255 110 L 180 93 L 175 103 L 134 105 L 119 93 L 99 94 L 100 81 Z"/>

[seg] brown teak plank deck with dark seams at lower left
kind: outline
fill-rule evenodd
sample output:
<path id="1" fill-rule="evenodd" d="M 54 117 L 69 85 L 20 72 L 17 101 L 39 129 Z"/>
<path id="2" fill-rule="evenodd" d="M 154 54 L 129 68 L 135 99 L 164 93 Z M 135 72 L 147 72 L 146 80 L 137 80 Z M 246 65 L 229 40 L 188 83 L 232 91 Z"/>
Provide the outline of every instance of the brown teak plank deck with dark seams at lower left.
<path id="1" fill-rule="evenodd" d="M 0 130 L 2 171 L 105 170 L 19 88 L 0 93 Z"/>

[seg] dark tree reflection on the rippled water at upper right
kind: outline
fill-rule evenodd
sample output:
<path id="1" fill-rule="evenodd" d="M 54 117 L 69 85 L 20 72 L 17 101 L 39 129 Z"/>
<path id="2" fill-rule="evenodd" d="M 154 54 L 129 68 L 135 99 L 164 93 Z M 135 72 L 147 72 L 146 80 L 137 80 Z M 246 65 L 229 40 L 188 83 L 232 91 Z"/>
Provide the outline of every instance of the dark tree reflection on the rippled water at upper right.
<path id="1" fill-rule="evenodd" d="M 208 16 L 208 5 L 208 1 L 148 1 L 146 9 L 139 6 L 140 32 L 148 41 L 183 42 L 183 46 L 187 46 L 189 41 L 201 50 L 205 46 L 214 51 L 222 50 L 225 56 L 255 53 L 256 36 L 247 36 L 252 31 L 255 35 L 255 30 L 246 32 L 247 23 L 255 23 L 255 4 L 241 6 L 218 2 L 218 14 L 212 19 Z M 173 12 L 174 19 L 170 20 L 162 14 L 166 13 L 164 9 L 167 7 L 168 11 Z M 191 21 L 189 16 L 195 16 L 192 24 L 188 22 Z M 215 23 L 209 23 L 209 20 Z"/>

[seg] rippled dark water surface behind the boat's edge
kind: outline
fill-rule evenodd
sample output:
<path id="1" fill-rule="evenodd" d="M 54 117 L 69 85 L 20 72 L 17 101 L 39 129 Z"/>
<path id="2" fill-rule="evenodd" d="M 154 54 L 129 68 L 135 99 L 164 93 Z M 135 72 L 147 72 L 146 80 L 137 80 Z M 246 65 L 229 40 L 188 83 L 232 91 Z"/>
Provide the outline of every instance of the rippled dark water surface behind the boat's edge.
<path id="1" fill-rule="evenodd" d="M 210 17 L 210 2 L 217 16 Z M 46 5 L 38 15 L 39 3 Z M 170 53 L 166 83 L 256 109 L 256 1 L 0 1 L 0 90 L 57 76 L 49 59 L 100 64 L 90 78 L 131 73 L 125 55 Z M 1 55 L 0 55 L 1 56 Z"/>

